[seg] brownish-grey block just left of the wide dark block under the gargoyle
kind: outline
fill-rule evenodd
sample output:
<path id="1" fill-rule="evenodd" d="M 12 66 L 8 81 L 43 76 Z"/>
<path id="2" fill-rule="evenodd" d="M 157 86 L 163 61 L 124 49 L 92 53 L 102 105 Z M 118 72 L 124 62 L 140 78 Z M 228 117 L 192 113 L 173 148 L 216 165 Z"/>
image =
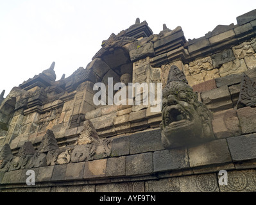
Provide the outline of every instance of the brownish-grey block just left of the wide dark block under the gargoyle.
<path id="1" fill-rule="evenodd" d="M 126 156 L 126 176 L 150 174 L 153 172 L 151 152 Z"/>

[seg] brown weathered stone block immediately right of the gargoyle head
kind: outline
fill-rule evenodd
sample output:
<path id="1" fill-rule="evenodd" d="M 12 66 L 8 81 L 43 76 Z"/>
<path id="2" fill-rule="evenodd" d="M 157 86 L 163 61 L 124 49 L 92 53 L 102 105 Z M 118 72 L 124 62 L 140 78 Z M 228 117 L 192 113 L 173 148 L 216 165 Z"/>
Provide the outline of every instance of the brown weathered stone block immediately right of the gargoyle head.
<path id="1" fill-rule="evenodd" d="M 241 135 L 237 113 L 234 109 L 214 113 L 212 129 L 217 138 Z"/>

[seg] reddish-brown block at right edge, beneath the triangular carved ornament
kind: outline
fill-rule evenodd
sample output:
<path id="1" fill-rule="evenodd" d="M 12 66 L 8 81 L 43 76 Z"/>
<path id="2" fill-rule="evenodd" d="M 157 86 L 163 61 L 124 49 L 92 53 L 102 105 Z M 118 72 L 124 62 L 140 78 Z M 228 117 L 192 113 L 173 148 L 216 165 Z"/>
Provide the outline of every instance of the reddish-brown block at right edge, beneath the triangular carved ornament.
<path id="1" fill-rule="evenodd" d="M 244 107 L 237 110 L 241 130 L 243 134 L 256 132 L 256 108 Z"/>

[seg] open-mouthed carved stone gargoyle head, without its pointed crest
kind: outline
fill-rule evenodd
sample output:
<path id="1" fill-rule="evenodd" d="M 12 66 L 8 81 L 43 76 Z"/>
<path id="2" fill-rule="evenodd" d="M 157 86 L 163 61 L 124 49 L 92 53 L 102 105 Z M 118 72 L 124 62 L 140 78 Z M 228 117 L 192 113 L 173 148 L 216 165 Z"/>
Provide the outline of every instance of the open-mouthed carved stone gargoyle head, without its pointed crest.
<path id="1" fill-rule="evenodd" d="M 211 113 L 198 102 L 191 86 L 171 81 L 163 90 L 162 143 L 165 148 L 189 146 L 214 138 Z"/>

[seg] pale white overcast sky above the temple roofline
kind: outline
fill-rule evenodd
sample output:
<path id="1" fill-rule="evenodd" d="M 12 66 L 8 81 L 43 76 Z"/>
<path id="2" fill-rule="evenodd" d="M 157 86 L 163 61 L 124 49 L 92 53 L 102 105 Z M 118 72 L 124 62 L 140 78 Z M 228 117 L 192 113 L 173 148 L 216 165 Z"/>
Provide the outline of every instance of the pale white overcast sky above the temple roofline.
<path id="1" fill-rule="evenodd" d="M 219 24 L 256 8 L 255 0 L 0 0 L 0 93 L 49 69 L 56 80 L 86 67 L 102 40 L 146 20 L 153 33 L 162 24 L 181 26 L 185 38 L 203 37 Z"/>

